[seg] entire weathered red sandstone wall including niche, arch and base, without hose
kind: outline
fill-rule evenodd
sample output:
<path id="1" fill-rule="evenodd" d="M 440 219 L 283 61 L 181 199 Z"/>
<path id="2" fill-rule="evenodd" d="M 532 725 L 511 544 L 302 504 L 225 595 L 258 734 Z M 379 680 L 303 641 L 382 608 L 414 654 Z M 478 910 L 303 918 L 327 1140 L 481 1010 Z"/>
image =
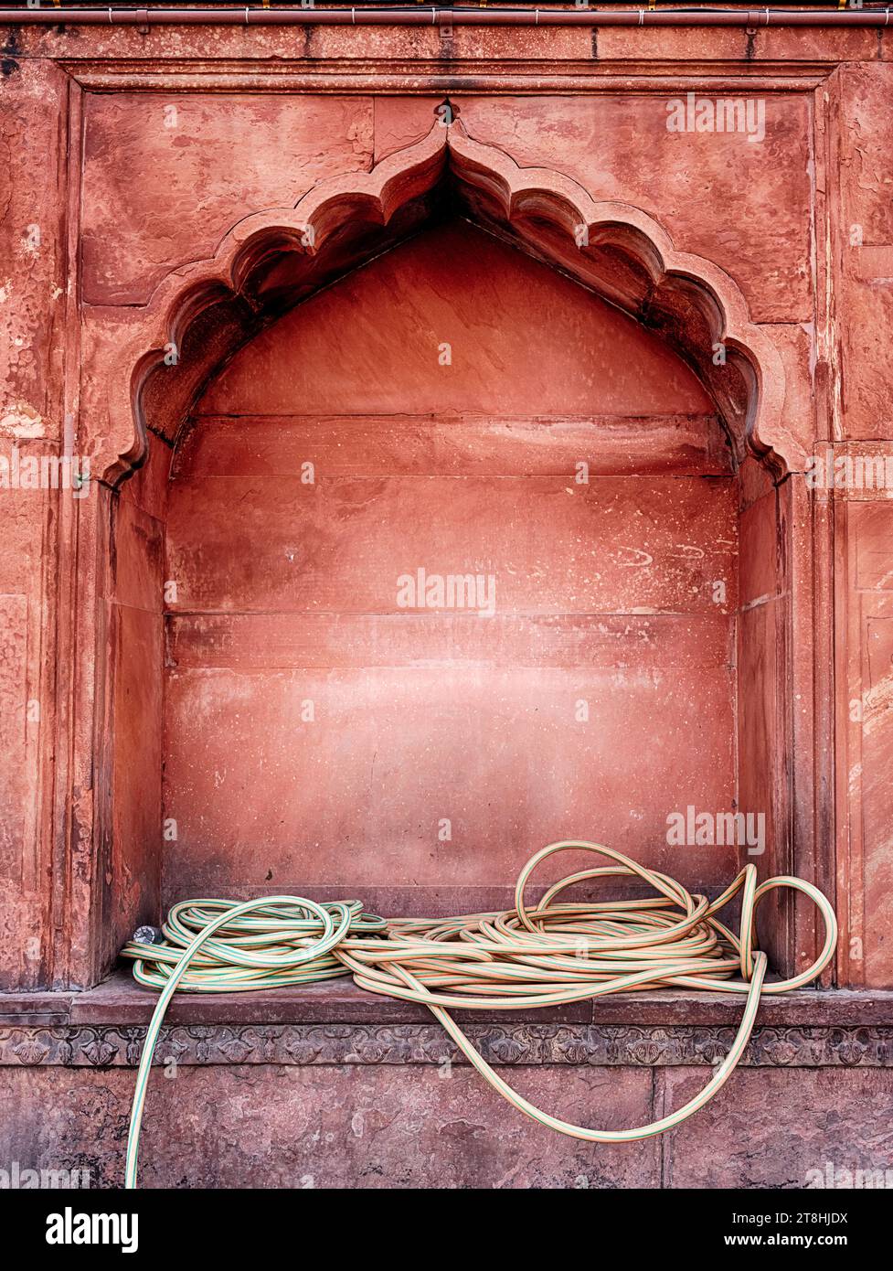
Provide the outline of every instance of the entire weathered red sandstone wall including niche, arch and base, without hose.
<path id="1" fill-rule="evenodd" d="M 893 32 L 53 23 L 0 43 L 0 451 L 72 444 L 116 479 L 147 458 L 76 506 L 0 491 L 0 984 L 95 984 L 158 915 L 166 765 L 188 839 L 171 897 L 373 880 L 376 905 L 415 913 L 507 904 L 561 833 L 718 887 L 746 853 L 671 850 L 659 813 L 734 798 L 766 815 L 762 876 L 835 892 L 857 990 L 766 1005 L 722 1101 L 620 1153 L 518 1129 L 466 1070 L 441 1080 L 431 1026 L 393 1004 L 339 1008 L 361 1059 L 338 1026 L 320 1042 L 330 1002 L 241 1023 L 177 1004 L 187 1057 L 152 1083 L 147 1181 L 794 1186 L 885 1164 L 889 1012 L 861 989 L 893 985 L 893 503 L 796 473 L 826 444 L 893 444 Z M 762 104 L 765 137 L 668 131 L 690 92 Z M 428 145 L 447 97 L 453 140 Z M 295 249 L 300 200 L 319 250 Z M 147 384 L 171 338 L 182 360 Z M 653 586 L 621 550 L 643 544 Z M 495 559 L 511 611 L 487 634 L 398 628 L 381 578 L 401 553 Z M 309 691 L 330 710 L 283 746 Z M 600 731 L 574 751 L 582 695 Z M 432 798 L 457 850 L 429 841 Z M 760 919 L 776 969 L 808 965 L 808 905 Z M 131 1074 L 105 1065 L 133 1061 L 147 1003 L 105 991 L 6 1012 L 0 1166 L 61 1152 L 119 1176 Z M 553 1031 L 475 1027 L 546 1107 L 630 1124 L 654 1110 L 628 1065 L 677 1106 L 734 1024 L 728 1003 L 634 1005 L 600 1008 L 602 1031 L 588 1004 Z"/>

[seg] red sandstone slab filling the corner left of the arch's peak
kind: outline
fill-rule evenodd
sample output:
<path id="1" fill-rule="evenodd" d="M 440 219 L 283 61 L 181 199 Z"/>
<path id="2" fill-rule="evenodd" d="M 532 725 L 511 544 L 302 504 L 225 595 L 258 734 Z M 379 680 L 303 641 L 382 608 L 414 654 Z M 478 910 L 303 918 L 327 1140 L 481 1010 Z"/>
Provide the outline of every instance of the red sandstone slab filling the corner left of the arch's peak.
<path id="1" fill-rule="evenodd" d="M 98 305 L 144 304 L 249 208 L 372 163 L 370 99 L 99 95 L 85 127 L 84 297 Z"/>

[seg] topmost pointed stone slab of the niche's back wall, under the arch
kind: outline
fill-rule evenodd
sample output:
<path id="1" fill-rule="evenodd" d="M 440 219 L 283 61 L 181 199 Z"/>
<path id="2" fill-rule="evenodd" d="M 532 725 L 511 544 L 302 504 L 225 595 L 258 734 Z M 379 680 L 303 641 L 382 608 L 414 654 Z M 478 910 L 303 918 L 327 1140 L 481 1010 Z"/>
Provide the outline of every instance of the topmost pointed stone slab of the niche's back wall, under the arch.
<path id="1" fill-rule="evenodd" d="M 293 309 L 234 357 L 196 413 L 440 421 L 596 409 L 710 416 L 713 403 L 638 323 L 456 221 Z"/>

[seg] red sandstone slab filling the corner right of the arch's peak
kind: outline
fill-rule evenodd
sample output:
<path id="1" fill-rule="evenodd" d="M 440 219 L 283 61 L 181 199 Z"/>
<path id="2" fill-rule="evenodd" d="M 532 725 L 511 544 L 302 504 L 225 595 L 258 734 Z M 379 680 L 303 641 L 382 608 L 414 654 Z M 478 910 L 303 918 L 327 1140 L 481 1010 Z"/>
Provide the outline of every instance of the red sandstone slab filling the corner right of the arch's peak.
<path id="1" fill-rule="evenodd" d="M 765 111 L 765 139 L 753 142 L 746 131 L 668 131 L 668 103 L 686 99 L 676 86 L 663 95 L 578 99 L 570 111 L 558 98 L 460 97 L 459 107 L 475 140 L 508 147 L 520 164 L 558 168 L 593 198 L 657 216 L 678 250 L 708 257 L 738 282 L 755 320 L 808 322 L 807 104 L 795 95 L 747 97 Z"/>

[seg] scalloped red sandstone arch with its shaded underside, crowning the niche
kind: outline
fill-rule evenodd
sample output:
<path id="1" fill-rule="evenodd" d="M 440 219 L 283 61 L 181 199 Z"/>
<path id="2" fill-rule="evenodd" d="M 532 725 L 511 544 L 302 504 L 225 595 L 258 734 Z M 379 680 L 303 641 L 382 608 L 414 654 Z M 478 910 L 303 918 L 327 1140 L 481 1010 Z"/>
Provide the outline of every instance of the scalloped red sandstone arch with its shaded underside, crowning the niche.
<path id="1" fill-rule="evenodd" d="M 329 178 L 291 207 L 244 217 L 212 258 L 174 269 L 113 355 L 94 470 L 116 484 L 140 466 L 149 427 L 175 440 L 205 385 L 248 339 L 420 228 L 446 186 L 470 219 L 661 333 L 711 394 L 737 461 L 749 450 L 776 477 L 802 469 L 805 456 L 782 422 L 781 358 L 729 275 L 676 252 L 640 208 L 596 201 L 563 173 L 521 168 L 455 119 L 368 173 Z"/>

